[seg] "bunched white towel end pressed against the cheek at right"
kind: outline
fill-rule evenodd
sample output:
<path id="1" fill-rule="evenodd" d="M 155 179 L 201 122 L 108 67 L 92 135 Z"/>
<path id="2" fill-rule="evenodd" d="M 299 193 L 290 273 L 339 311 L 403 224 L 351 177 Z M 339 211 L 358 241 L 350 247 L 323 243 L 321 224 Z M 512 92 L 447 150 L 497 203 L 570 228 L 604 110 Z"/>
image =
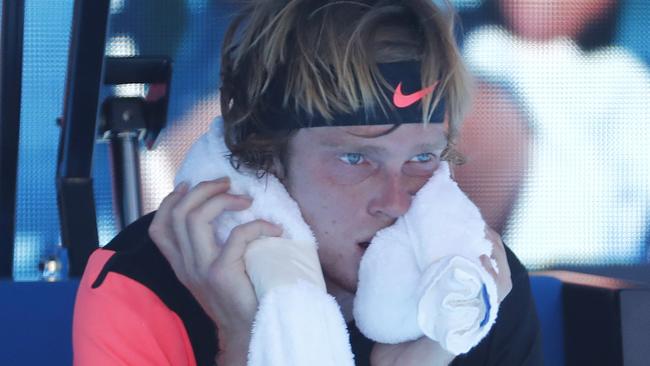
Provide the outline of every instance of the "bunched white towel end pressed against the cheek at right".
<path id="1" fill-rule="evenodd" d="M 491 252 L 478 208 L 443 162 L 361 259 L 359 330 L 382 343 L 426 335 L 455 355 L 469 351 L 496 320 L 496 284 L 479 259 Z"/>

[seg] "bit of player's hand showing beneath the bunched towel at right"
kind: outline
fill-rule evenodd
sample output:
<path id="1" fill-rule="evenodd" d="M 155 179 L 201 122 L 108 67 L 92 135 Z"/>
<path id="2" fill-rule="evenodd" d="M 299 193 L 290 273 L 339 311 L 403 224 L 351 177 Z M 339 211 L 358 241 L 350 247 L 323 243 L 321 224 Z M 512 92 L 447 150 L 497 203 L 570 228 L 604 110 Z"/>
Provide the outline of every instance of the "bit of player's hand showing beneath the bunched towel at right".
<path id="1" fill-rule="evenodd" d="M 370 353 L 373 366 L 449 365 L 454 355 L 427 337 L 399 344 L 377 343 Z"/>

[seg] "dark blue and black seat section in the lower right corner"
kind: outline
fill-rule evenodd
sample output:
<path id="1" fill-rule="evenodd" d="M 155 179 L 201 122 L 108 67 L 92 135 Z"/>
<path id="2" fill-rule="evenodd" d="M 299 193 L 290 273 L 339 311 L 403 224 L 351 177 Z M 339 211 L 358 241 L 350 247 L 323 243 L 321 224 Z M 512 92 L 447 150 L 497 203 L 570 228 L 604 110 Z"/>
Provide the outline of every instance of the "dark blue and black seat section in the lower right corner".
<path id="1" fill-rule="evenodd" d="M 531 288 L 545 365 L 650 364 L 650 285 L 547 271 Z"/>

